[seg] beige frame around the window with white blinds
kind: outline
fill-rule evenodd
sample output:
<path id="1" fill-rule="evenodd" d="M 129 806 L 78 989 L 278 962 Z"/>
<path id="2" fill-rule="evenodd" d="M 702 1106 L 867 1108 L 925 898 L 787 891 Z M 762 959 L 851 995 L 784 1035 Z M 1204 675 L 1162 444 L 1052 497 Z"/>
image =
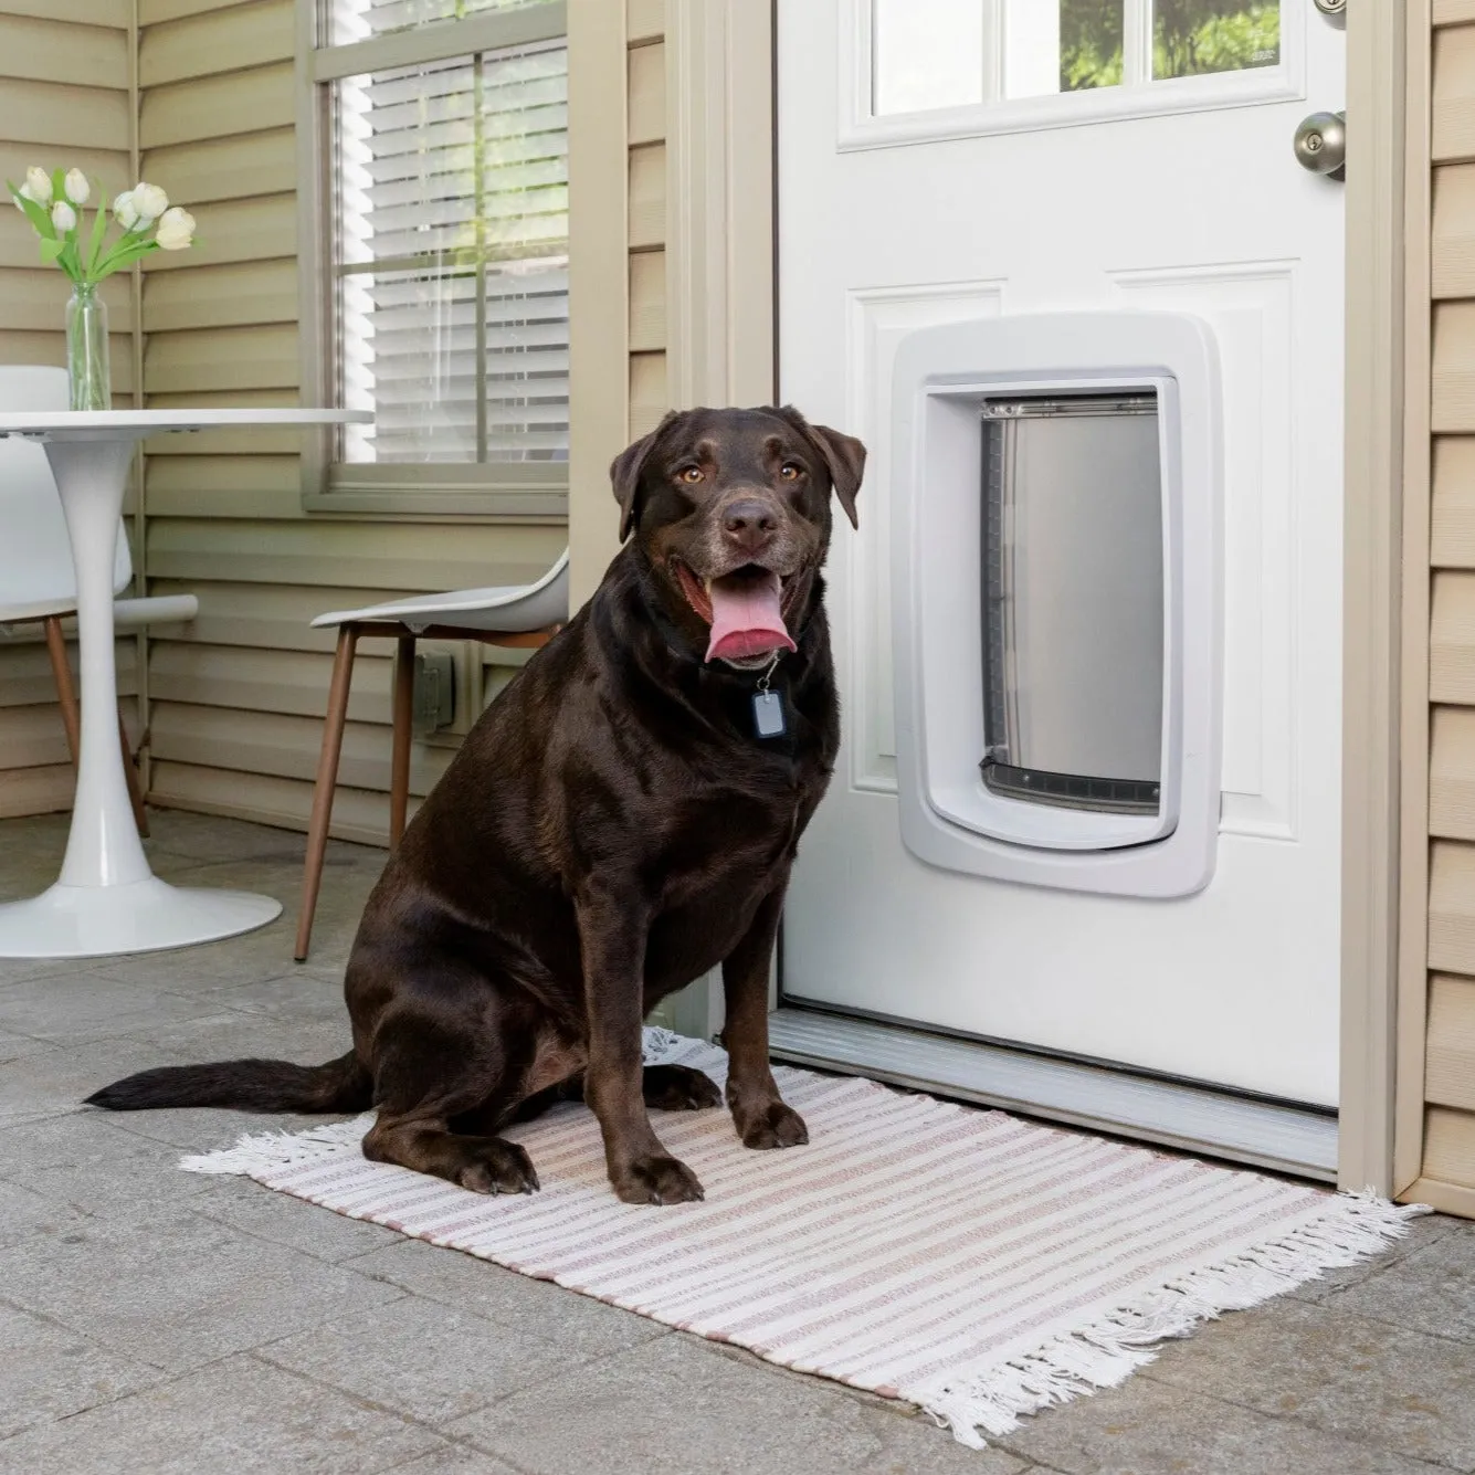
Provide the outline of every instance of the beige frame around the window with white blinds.
<path id="1" fill-rule="evenodd" d="M 323 0 L 296 0 L 298 354 L 304 404 L 335 404 L 332 258 L 332 84 L 344 77 L 450 60 L 538 41 L 566 43 L 566 0 L 543 0 L 413 31 L 333 46 Z M 304 437 L 308 512 L 568 519 L 568 462 L 353 463 L 333 457 L 333 432 Z"/>

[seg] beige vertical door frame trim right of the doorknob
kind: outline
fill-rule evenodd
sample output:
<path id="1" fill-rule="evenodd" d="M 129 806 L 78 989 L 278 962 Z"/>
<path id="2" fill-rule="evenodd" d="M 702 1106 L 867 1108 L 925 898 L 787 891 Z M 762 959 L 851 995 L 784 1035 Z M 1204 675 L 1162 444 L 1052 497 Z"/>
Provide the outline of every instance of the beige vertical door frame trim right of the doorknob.
<path id="1" fill-rule="evenodd" d="M 1409 885 L 1400 876 L 1401 742 L 1416 738 L 1400 733 L 1407 714 L 1400 646 L 1404 379 L 1412 347 L 1404 324 L 1416 317 L 1406 316 L 1404 230 L 1410 224 L 1407 184 L 1419 176 L 1406 153 L 1416 133 L 1407 118 L 1406 59 L 1413 55 L 1409 28 L 1420 10 L 1423 0 L 1347 7 L 1338 1181 L 1381 1193 L 1406 1186 L 1394 1183 L 1400 937 L 1413 935 L 1412 906 L 1423 907 L 1415 876 L 1403 878 Z M 1417 233 L 1410 237 L 1417 239 Z"/>

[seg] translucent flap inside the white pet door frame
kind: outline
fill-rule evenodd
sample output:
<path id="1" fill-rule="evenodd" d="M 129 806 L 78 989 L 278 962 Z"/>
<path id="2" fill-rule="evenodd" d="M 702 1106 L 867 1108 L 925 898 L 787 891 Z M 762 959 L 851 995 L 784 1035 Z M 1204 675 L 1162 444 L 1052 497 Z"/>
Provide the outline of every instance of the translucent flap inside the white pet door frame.
<path id="1" fill-rule="evenodd" d="M 1156 814 L 1162 478 L 1153 392 L 982 407 L 990 792 Z"/>

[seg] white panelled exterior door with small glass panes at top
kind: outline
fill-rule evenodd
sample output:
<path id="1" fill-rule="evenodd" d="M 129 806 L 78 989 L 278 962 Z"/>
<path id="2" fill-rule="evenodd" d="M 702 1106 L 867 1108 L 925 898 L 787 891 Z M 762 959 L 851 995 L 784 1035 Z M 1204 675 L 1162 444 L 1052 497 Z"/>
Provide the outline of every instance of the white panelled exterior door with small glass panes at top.
<path id="1" fill-rule="evenodd" d="M 785 1000 L 1335 1105 L 1344 212 L 1292 139 L 1342 106 L 1342 31 L 1313 0 L 780 0 L 777 59 L 782 395 L 872 451 Z M 895 345 L 1112 307 L 1208 320 L 1223 370 L 1220 842 L 1173 901 L 934 869 L 897 822 Z"/>

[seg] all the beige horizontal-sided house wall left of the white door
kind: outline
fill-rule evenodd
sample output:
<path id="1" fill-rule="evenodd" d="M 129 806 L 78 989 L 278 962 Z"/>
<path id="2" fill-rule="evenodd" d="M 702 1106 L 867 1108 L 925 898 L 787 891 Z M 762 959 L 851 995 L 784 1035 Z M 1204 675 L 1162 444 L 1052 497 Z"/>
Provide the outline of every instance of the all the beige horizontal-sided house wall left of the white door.
<path id="1" fill-rule="evenodd" d="M 593 555 L 580 569 L 593 587 L 615 552 L 609 457 L 665 409 L 665 4 L 599 0 L 571 15 L 571 27 L 618 24 L 618 59 L 594 62 L 608 75 L 583 78 L 587 105 L 605 109 L 589 131 L 609 131 L 611 99 L 630 119 L 614 187 L 575 184 L 591 270 L 574 311 L 581 329 L 618 313 L 621 366 L 611 392 L 602 376 L 583 376 L 586 403 L 609 401 L 611 426 L 586 488 Z M 140 288 L 127 276 L 108 288 L 119 403 L 299 403 L 294 16 L 294 0 L 0 0 L 0 117 L 15 134 L 0 139 L 0 173 L 81 164 L 109 192 L 142 173 L 199 221 L 196 249 L 153 257 Z M 609 240 L 615 292 L 591 260 Z M 65 282 L 41 268 L 19 212 L 0 209 L 0 361 L 63 363 L 63 302 Z M 581 419 L 594 425 L 599 413 Z M 162 805 L 305 827 L 333 646 L 308 621 L 407 593 L 531 580 L 568 538 L 553 524 L 307 515 L 291 432 L 159 438 L 146 450 L 140 584 L 201 600 L 198 621 L 156 630 L 146 646 L 149 795 Z M 142 648 L 119 642 L 130 696 Z M 466 701 L 456 732 L 416 743 L 416 795 L 524 659 L 451 649 Z M 386 645 L 360 646 L 333 823 L 345 838 L 386 838 L 389 670 Z M 137 732 L 131 705 L 128 715 Z M 44 649 L 24 633 L 0 637 L 0 816 L 65 808 L 71 788 Z"/>

